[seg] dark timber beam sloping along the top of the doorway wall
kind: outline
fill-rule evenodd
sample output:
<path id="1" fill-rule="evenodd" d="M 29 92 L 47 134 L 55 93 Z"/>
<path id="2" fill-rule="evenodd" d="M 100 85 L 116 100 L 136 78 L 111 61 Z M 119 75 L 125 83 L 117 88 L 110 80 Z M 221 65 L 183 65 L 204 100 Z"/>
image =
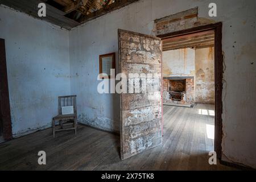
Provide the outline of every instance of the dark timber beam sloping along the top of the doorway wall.
<path id="1" fill-rule="evenodd" d="M 110 13 L 111 11 L 120 9 L 124 6 L 130 5 L 131 3 L 137 2 L 137 1 L 139 1 L 139 0 L 119 0 L 119 1 L 116 1 L 112 4 L 110 4 L 110 5 L 105 6 L 103 9 L 100 9 L 98 11 L 95 11 L 93 13 L 90 13 L 90 14 L 82 17 L 81 19 L 79 19 L 79 22 L 80 23 L 88 22 L 91 19 L 98 18 L 99 16 L 105 15 L 107 13 Z"/>

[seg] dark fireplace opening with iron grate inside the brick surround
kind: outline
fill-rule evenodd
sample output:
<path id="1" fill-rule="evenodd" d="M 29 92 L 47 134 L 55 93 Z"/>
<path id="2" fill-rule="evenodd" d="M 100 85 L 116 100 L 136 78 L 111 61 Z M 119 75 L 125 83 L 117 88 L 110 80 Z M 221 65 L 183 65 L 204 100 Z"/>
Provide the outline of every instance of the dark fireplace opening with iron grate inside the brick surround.
<path id="1" fill-rule="evenodd" d="M 169 80 L 169 93 L 172 101 L 185 101 L 186 81 Z"/>

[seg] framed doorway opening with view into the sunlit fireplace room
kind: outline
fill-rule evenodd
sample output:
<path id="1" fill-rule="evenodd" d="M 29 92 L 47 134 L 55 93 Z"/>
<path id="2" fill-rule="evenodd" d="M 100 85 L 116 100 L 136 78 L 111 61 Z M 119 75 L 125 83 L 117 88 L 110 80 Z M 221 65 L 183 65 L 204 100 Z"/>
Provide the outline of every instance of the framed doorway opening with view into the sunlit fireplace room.
<path id="1" fill-rule="evenodd" d="M 163 50 L 163 135 L 176 131 L 185 154 L 216 151 L 219 159 L 221 27 L 216 23 L 158 36 Z"/>

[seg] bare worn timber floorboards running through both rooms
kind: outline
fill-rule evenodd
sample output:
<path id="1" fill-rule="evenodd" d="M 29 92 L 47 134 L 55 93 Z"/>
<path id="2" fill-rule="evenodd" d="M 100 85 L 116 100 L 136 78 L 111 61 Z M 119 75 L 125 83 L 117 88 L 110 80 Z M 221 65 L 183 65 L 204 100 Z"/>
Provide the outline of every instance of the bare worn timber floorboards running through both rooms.
<path id="1" fill-rule="evenodd" d="M 213 105 L 194 108 L 164 106 L 162 146 L 120 160 L 119 136 L 79 125 L 77 136 L 65 131 L 52 137 L 47 129 L 0 144 L 0 169 L 10 170 L 230 170 L 208 164 L 207 124 L 213 116 L 204 115 Z M 202 110 L 200 110 L 202 109 Z M 209 114 L 209 112 L 208 112 Z M 46 165 L 38 164 L 38 151 L 46 151 Z"/>

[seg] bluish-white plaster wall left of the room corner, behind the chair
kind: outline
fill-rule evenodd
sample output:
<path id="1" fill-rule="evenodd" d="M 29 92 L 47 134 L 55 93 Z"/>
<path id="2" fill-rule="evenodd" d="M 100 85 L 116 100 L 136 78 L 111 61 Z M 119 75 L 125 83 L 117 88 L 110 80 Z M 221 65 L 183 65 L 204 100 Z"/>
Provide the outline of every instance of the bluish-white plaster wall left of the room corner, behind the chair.
<path id="1" fill-rule="evenodd" d="M 0 6 L 14 137 L 51 126 L 70 94 L 68 31 Z"/>

